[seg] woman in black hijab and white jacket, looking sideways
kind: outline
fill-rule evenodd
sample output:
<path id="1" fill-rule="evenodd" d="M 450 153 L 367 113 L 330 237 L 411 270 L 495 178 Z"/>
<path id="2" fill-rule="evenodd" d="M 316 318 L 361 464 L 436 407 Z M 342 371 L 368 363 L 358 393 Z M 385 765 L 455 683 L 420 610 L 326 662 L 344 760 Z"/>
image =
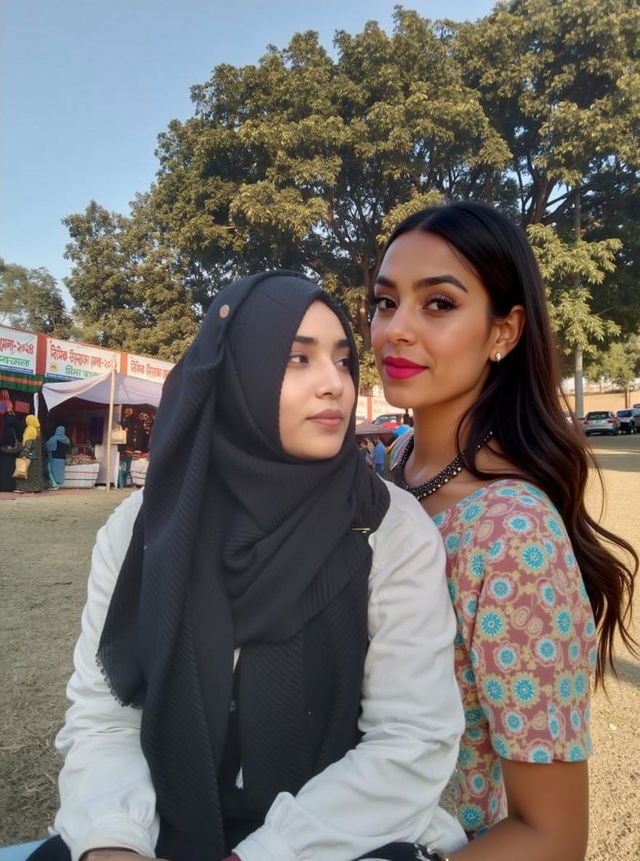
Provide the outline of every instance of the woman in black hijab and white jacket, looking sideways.
<path id="1" fill-rule="evenodd" d="M 462 727 L 444 554 L 358 453 L 356 355 L 302 276 L 212 303 L 165 383 L 144 495 L 98 534 L 57 740 L 66 845 L 34 858 L 464 842 L 437 806 Z"/>

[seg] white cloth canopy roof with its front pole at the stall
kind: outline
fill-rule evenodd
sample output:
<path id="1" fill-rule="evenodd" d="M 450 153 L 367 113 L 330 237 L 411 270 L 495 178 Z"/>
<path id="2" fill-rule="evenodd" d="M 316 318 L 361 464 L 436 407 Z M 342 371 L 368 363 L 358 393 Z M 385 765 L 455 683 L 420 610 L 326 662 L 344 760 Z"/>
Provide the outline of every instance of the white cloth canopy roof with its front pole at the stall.
<path id="1" fill-rule="evenodd" d="M 107 432 L 107 490 L 111 489 L 111 429 L 115 404 L 149 404 L 157 407 L 162 396 L 162 385 L 149 380 L 129 377 L 107 371 L 96 377 L 70 380 L 67 383 L 45 383 L 42 396 L 48 409 L 53 409 L 70 398 L 82 398 L 95 404 L 109 404 Z"/>

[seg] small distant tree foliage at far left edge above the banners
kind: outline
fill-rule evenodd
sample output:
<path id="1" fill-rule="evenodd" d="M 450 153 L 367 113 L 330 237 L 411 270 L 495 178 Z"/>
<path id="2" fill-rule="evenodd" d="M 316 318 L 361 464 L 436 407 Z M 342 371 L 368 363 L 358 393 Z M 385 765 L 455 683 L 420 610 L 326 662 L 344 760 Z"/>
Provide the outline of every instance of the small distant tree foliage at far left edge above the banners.
<path id="1" fill-rule="evenodd" d="M 0 323 L 66 338 L 72 322 L 55 278 L 0 258 Z"/>

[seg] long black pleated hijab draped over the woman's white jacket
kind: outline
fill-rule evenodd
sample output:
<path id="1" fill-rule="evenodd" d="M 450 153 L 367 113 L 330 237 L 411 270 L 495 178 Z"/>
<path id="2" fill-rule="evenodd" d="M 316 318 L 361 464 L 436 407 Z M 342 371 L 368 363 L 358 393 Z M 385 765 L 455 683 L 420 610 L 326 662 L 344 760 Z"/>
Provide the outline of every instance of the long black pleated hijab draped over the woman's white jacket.
<path id="1" fill-rule="evenodd" d="M 98 661 L 118 700 L 143 708 L 158 847 L 175 861 L 225 851 L 218 778 L 234 648 L 252 809 L 354 742 L 371 566 L 360 530 L 378 527 L 389 495 L 352 434 L 321 461 L 280 444 L 287 360 L 316 300 L 336 312 L 355 357 L 344 315 L 316 284 L 277 271 L 245 278 L 212 303 L 154 425 Z"/>

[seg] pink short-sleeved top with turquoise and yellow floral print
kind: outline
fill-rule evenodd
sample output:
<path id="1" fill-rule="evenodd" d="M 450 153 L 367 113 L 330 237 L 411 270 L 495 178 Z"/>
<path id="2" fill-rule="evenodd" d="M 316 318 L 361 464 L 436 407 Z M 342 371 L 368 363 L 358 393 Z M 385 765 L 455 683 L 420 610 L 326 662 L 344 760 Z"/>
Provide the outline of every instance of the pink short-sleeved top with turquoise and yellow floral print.
<path id="1" fill-rule="evenodd" d="M 466 716 L 457 814 L 475 836 L 506 816 L 500 757 L 591 753 L 596 631 L 563 521 L 538 488 L 496 481 L 433 520 L 447 553 Z"/>

